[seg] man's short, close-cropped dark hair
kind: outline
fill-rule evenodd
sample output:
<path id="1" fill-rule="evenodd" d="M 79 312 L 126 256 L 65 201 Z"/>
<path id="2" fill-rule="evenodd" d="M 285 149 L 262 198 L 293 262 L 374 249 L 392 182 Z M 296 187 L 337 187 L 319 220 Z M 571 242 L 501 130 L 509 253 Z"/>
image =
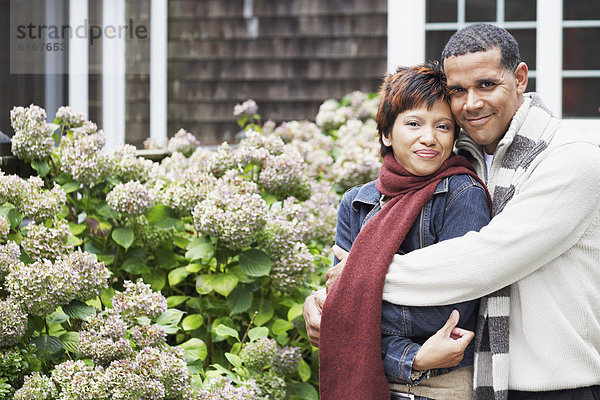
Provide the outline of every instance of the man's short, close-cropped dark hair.
<path id="1" fill-rule="evenodd" d="M 452 35 L 442 51 L 442 63 L 449 57 L 495 48 L 499 48 L 502 54 L 500 64 L 514 71 L 521 62 L 519 44 L 505 29 L 492 24 L 468 25 Z"/>

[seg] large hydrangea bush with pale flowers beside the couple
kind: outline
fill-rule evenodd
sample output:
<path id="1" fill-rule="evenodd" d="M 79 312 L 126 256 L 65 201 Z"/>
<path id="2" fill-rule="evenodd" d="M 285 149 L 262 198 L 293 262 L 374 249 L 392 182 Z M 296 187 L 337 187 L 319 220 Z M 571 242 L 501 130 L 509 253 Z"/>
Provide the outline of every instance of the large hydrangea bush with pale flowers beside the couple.
<path id="1" fill-rule="evenodd" d="M 316 399 L 302 304 L 330 260 L 339 196 L 377 175 L 377 99 L 237 144 L 178 131 L 153 162 L 61 107 L 15 107 L 0 175 L 0 399 Z M 4 364 L 2 364 L 4 365 Z"/>

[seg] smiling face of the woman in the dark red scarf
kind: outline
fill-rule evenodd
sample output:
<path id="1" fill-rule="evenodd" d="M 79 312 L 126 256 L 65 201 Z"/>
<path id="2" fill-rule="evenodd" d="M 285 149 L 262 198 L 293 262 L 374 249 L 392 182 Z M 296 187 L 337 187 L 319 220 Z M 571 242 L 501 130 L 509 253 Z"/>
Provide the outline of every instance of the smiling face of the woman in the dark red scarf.
<path id="1" fill-rule="evenodd" d="M 413 108 L 398 114 L 390 137 L 394 158 L 408 172 L 426 176 L 437 171 L 450 157 L 454 145 L 454 118 L 448 103 L 439 100 L 431 109 Z"/>

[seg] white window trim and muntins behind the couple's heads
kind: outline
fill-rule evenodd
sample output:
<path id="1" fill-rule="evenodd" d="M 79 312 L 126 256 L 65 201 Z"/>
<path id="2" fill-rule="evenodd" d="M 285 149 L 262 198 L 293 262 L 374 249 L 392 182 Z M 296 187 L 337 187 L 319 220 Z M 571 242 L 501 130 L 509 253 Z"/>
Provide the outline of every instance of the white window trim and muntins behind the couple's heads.
<path id="1" fill-rule="evenodd" d="M 466 26 L 464 21 L 465 0 L 458 0 L 458 21 L 452 23 L 426 23 L 425 0 L 388 0 L 388 72 L 398 65 L 414 65 L 425 61 L 425 31 L 451 30 Z M 537 0 L 537 21 L 503 22 L 504 0 L 497 2 L 496 23 L 507 29 L 536 28 L 536 71 L 530 71 L 530 78 L 536 78 L 536 91 L 558 117 L 562 117 L 562 78 L 596 77 L 600 71 L 562 70 L 562 28 L 598 26 L 598 21 L 563 21 L 563 0 Z M 563 125 L 580 132 L 590 133 L 600 138 L 600 118 L 568 118 Z"/>

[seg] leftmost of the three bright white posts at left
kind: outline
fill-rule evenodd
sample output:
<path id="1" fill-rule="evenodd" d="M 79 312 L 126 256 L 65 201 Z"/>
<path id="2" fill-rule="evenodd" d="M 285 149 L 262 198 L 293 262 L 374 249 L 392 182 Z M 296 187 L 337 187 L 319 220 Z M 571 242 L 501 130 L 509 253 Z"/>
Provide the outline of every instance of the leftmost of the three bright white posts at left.
<path id="1" fill-rule="evenodd" d="M 69 1 L 69 25 L 71 29 L 86 25 L 88 20 L 87 1 Z M 69 39 L 69 94 L 67 103 L 75 112 L 89 117 L 89 59 L 88 39 L 73 35 Z M 56 110 L 54 110 L 56 111 Z"/>

